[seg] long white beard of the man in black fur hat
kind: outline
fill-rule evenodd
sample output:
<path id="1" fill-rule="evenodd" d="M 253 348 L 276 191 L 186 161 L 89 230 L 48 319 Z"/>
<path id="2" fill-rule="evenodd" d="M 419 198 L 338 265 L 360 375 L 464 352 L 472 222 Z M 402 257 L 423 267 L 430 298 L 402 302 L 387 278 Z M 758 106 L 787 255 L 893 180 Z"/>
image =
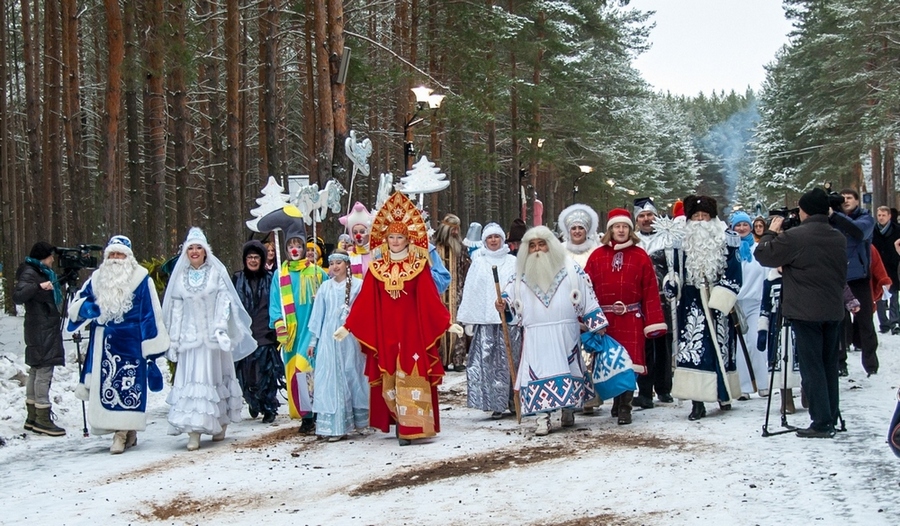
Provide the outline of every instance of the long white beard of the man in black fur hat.
<path id="1" fill-rule="evenodd" d="M 725 225 L 718 218 L 688 221 L 684 227 L 684 268 L 687 282 L 712 285 L 725 270 Z"/>

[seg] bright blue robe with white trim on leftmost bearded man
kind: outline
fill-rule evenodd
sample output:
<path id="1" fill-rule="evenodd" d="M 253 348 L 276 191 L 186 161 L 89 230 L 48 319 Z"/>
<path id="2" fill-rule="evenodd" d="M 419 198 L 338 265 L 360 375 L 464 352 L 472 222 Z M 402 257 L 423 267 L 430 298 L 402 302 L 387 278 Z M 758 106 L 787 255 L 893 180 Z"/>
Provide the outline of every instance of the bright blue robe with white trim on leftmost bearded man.
<path id="1" fill-rule="evenodd" d="M 156 368 L 154 360 L 169 348 L 159 296 L 147 270 L 137 267 L 130 284 L 133 306 L 121 322 L 88 319 L 96 306 L 90 279 L 69 305 L 67 330 L 75 332 L 85 324 L 89 330 L 75 396 L 90 401 L 87 419 L 95 435 L 146 428 L 148 369 Z"/>

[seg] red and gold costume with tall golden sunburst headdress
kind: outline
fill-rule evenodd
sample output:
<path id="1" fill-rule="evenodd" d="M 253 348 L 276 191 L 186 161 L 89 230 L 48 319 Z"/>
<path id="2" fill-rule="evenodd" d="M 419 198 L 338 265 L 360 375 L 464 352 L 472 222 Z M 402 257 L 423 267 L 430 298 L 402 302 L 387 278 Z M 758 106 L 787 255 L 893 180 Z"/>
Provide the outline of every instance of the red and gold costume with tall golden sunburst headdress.
<path id="1" fill-rule="evenodd" d="M 388 234 L 409 239 L 392 254 Z M 431 278 L 428 231 L 415 204 L 394 193 L 372 224 L 373 248 L 362 290 L 344 326 L 366 355 L 371 386 L 370 425 L 397 425 L 403 439 L 440 431 L 437 385 L 444 376 L 436 343 L 450 327 L 450 313 Z"/>

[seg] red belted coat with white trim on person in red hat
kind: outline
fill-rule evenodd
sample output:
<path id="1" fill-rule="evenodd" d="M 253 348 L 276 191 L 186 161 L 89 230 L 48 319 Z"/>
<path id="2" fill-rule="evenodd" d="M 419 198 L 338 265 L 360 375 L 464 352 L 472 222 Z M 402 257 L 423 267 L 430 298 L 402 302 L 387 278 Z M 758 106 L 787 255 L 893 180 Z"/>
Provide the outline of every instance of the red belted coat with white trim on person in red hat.
<path id="1" fill-rule="evenodd" d="M 591 254 L 584 270 L 609 321 L 606 333 L 625 347 L 635 371 L 647 374 L 644 340 L 662 336 L 667 330 L 650 256 L 631 241 L 615 248 L 603 245 Z M 639 303 L 640 310 L 621 315 L 609 312 L 606 307 L 617 301 Z"/>

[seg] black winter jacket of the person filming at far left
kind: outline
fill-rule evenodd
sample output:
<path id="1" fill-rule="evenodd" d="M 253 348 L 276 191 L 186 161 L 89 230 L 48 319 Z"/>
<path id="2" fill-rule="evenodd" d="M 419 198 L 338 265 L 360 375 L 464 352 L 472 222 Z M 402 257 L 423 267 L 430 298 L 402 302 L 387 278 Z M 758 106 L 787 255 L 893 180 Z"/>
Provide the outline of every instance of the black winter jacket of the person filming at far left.
<path id="1" fill-rule="evenodd" d="M 66 364 L 62 315 L 53 299 L 53 291 L 41 288 L 45 281 L 49 278 L 30 263 L 22 263 L 16 270 L 13 301 L 25 306 L 25 363 L 29 367 Z"/>

